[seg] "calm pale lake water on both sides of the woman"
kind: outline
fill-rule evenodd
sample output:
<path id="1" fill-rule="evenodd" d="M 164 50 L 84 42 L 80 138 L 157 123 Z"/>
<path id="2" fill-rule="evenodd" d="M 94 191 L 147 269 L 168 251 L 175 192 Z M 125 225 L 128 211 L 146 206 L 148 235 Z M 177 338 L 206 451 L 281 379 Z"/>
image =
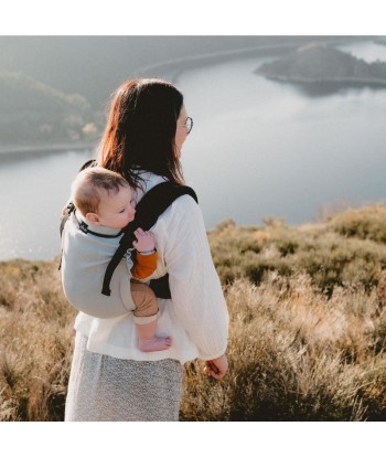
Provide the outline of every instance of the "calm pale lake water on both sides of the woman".
<path id="1" fill-rule="evenodd" d="M 343 49 L 343 46 L 342 46 Z M 344 51 L 386 61 L 371 42 Z M 268 57 L 267 57 L 268 58 Z M 386 89 L 305 90 L 254 74 L 256 57 L 179 73 L 194 119 L 182 161 L 207 228 L 267 216 L 318 221 L 324 209 L 385 199 Z M 0 159 L 0 259 L 60 253 L 58 215 L 92 151 Z"/>

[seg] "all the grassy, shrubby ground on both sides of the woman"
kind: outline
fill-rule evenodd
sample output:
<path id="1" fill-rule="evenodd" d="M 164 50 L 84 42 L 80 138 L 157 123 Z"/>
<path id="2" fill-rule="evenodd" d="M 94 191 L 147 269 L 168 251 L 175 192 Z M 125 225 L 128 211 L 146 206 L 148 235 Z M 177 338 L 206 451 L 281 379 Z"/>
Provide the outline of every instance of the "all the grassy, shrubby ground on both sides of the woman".
<path id="1" fill-rule="evenodd" d="M 208 234 L 230 313 L 229 372 L 217 383 L 202 362 L 186 364 L 182 420 L 386 418 L 384 214 L 299 228 L 227 221 Z M 0 263 L 0 420 L 63 419 L 75 310 L 56 267 Z"/>

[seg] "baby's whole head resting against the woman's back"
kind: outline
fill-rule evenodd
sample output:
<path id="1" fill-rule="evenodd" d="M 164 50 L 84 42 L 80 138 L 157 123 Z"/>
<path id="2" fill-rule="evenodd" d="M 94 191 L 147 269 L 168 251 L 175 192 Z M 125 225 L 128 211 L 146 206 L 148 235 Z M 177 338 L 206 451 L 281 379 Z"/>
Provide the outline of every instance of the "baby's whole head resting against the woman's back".
<path id="1" fill-rule="evenodd" d="M 101 167 L 85 169 L 71 190 L 75 207 L 95 226 L 121 228 L 135 219 L 131 189 L 119 173 Z"/>

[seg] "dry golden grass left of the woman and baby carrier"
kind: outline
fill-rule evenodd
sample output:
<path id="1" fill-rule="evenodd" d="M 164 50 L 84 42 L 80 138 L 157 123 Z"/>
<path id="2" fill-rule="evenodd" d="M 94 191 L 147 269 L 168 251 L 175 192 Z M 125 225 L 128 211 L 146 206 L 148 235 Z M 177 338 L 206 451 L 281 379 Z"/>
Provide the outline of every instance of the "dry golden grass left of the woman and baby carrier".
<path id="1" fill-rule="evenodd" d="M 56 263 L 1 263 L 0 273 L 0 419 L 60 420 L 75 312 Z"/>

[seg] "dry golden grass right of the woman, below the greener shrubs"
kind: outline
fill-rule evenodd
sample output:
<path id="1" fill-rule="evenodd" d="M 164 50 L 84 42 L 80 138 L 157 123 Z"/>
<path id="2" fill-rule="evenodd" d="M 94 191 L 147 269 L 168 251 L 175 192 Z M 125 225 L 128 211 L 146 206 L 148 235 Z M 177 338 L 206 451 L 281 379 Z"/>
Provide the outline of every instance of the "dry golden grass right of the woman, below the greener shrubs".
<path id="1" fill-rule="evenodd" d="M 376 329 L 377 292 L 337 290 L 275 275 L 227 290 L 229 374 L 211 383 L 187 369 L 182 418 L 194 420 L 364 420 L 386 413 L 386 359 Z"/>

